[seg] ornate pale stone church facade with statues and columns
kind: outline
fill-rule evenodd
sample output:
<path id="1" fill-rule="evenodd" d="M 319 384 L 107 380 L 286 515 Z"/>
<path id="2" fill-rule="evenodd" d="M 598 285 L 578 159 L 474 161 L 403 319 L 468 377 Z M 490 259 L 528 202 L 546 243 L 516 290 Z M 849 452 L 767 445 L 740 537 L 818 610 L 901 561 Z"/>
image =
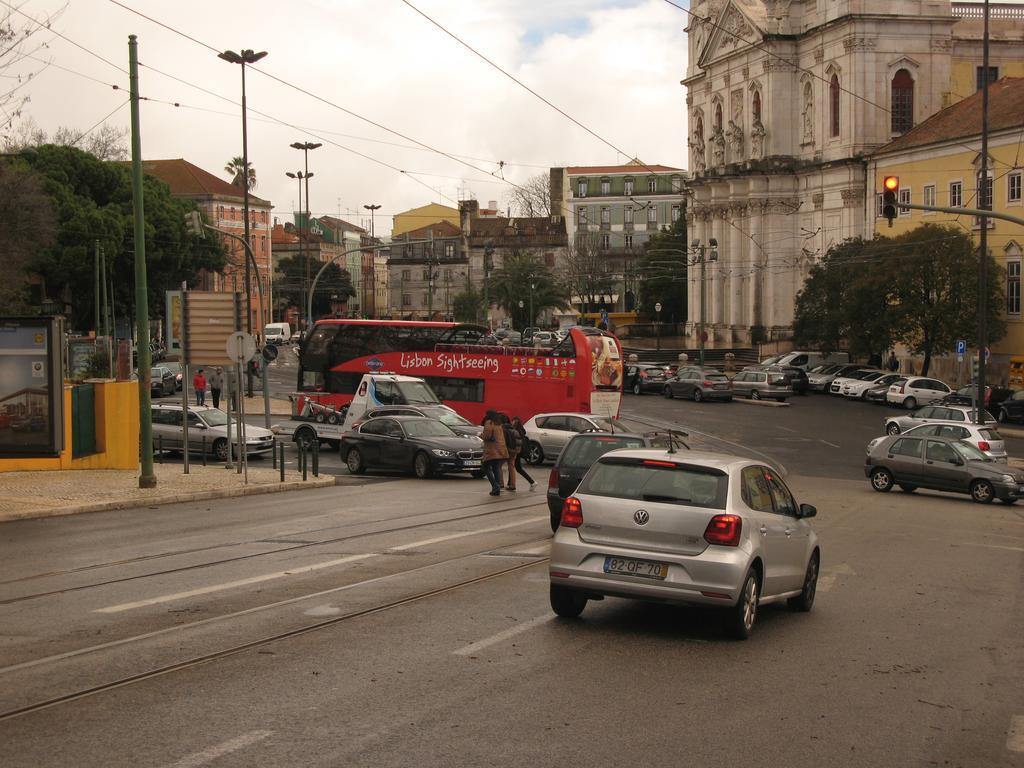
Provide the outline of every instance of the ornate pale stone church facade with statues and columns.
<path id="1" fill-rule="evenodd" d="M 980 35 L 972 14 L 959 34 L 964 14 L 948 0 L 695 0 L 692 10 L 687 218 L 691 241 L 718 242 L 706 270 L 709 344 L 788 338 L 810 267 L 873 230 L 866 156 L 973 92 L 952 87 L 959 59 L 980 65 Z M 1020 37 L 1010 38 L 993 47 L 996 67 L 1020 60 Z M 695 339 L 701 286 L 691 275 Z"/>

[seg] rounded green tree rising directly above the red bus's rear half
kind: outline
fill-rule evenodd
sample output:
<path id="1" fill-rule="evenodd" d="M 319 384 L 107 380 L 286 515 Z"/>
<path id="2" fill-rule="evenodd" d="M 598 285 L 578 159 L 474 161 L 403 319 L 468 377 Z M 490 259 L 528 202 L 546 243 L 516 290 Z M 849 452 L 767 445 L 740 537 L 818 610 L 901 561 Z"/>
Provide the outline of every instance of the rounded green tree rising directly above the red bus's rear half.
<path id="1" fill-rule="evenodd" d="M 505 256 L 502 265 L 490 273 L 487 299 L 504 309 L 512 317 L 513 327 L 519 329 L 535 325 L 537 315 L 545 309 L 568 306 L 565 289 L 529 251 L 512 251 Z"/>

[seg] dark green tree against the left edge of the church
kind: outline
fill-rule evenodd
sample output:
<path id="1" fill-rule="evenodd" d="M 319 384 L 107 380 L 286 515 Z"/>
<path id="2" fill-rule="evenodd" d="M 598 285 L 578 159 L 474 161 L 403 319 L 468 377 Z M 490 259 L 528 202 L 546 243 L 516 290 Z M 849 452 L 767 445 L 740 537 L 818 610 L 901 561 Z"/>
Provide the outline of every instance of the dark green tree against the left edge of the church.
<path id="1" fill-rule="evenodd" d="M 662 318 L 686 321 L 687 282 L 686 216 L 680 216 L 671 229 L 652 234 L 643 246 L 638 274 L 639 306 L 654 315 L 654 305 L 662 304 Z"/>

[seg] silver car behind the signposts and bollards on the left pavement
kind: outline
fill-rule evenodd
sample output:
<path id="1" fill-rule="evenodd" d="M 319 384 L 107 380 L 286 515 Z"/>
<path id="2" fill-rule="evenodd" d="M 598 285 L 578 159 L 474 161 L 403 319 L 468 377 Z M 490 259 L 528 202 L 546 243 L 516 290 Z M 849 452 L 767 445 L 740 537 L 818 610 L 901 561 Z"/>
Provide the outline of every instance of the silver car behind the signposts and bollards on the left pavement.
<path id="1" fill-rule="evenodd" d="M 181 451 L 184 446 L 184 427 L 181 420 L 181 406 L 171 403 L 154 404 L 153 446 L 164 451 Z M 233 447 L 233 455 L 240 456 L 239 437 L 236 423 L 231 422 L 231 434 L 227 434 L 227 415 L 215 408 L 188 408 L 188 453 L 201 454 L 206 450 L 221 461 L 227 459 L 227 443 Z M 260 456 L 273 450 L 273 432 L 263 427 L 246 424 L 246 454 Z"/>

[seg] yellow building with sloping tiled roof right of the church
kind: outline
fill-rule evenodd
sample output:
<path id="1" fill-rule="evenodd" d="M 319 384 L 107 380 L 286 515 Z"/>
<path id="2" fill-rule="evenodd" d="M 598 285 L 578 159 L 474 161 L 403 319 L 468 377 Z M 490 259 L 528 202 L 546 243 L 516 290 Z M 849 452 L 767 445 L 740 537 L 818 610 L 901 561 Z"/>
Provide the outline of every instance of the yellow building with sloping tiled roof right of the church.
<path id="1" fill-rule="evenodd" d="M 1002 78 L 989 86 L 988 178 L 991 210 L 1024 218 L 1024 78 Z M 925 223 L 952 224 L 981 231 L 974 216 L 900 211 L 892 228 L 882 218 L 882 180 L 899 176 L 899 200 L 918 205 L 979 208 L 981 173 L 981 92 L 935 114 L 871 155 L 868 182 L 874 183 L 872 234 L 896 236 Z M 870 200 L 870 194 L 868 195 Z M 869 219 L 870 220 L 870 219 Z M 1006 280 L 1007 335 L 991 345 L 993 356 L 1024 354 L 1021 315 L 1021 259 L 1024 225 L 989 219 L 988 249 Z"/>

